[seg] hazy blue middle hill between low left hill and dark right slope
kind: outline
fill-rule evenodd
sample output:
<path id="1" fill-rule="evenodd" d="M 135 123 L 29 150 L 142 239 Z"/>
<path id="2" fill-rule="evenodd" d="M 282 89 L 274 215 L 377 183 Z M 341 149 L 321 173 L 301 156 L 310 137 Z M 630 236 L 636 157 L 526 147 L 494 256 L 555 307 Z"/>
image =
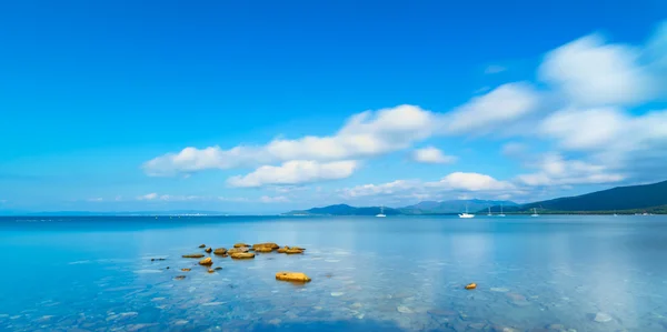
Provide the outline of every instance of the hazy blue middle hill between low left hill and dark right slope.
<path id="1" fill-rule="evenodd" d="M 399 210 L 404 214 L 445 214 L 465 212 L 466 205 L 469 212 L 476 212 L 495 205 L 517 207 L 518 204 L 512 201 L 449 200 L 441 202 L 426 201 Z"/>

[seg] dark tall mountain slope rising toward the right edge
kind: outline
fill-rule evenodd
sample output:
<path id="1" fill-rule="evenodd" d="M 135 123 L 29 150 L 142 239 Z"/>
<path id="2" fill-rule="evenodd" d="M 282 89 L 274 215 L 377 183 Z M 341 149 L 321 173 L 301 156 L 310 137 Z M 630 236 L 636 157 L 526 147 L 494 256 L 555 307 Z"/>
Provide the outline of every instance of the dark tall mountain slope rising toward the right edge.
<path id="1" fill-rule="evenodd" d="M 667 210 L 667 181 L 617 187 L 577 197 L 558 198 L 507 209 L 506 212 L 655 212 Z M 495 208 L 494 208 L 495 209 Z"/>

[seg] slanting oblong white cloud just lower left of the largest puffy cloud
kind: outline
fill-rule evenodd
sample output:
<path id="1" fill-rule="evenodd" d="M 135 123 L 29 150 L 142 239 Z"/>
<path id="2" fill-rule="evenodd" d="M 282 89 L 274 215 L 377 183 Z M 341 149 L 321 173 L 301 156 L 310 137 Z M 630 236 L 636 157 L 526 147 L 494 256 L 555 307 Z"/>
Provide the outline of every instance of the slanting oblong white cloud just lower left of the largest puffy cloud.
<path id="1" fill-rule="evenodd" d="M 445 130 L 452 134 L 486 134 L 535 111 L 538 100 L 528 83 L 504 84 L 447 113 Z"/>

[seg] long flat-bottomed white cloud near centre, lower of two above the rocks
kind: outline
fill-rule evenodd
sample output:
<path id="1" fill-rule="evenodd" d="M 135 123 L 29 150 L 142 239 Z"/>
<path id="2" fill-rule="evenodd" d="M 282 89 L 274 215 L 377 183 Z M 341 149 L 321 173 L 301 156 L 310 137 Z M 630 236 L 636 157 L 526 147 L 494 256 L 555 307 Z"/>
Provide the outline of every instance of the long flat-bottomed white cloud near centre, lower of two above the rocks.
<path id="1" fill-rule="evenodd" d="M 263 187 L 267 184 L 298 184 L 349 178 L 357 169 L 354 160 L 320 163 L 312 160 L 292 160 L 279 167 L 263 165 L 247 175 L 227 180 L 231 187 Z"/>

